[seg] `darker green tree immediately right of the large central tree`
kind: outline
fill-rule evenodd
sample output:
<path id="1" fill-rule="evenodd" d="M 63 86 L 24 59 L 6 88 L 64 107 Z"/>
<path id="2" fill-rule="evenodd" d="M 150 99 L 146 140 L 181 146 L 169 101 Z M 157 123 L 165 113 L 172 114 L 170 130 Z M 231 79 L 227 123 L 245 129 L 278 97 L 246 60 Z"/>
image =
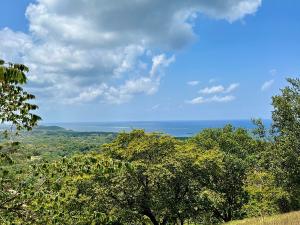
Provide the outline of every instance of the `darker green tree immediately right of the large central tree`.
<path id="1" fill-rule="evenodd" d="M 248 200 L 244 182 L 247 169 L 252 165 L 248 159 L 257 153 L 257 142 L 246 130 L 231 125 L 205 129 L 190 141 L 203 152 L 201 161 L 214 162 L 214 166 L 205 166 L 202 172 L 201 179 L 206 187 L 202 193 L 205 209 L 219 221 L 242 218 L 241 209 Z M 208 153 L 214 157 L 205 159 Z"/>

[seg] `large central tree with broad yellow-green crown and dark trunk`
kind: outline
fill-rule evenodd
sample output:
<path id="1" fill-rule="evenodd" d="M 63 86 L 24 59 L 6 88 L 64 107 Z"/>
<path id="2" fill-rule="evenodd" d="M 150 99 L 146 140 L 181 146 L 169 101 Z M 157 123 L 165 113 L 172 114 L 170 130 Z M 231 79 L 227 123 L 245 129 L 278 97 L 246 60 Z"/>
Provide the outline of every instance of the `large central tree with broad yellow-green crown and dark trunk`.
<path id="1" fill-rule="evenodd" d="M 180 141 L 135 130 L 120 134 L 104 152 L 130 164 L 104 183 L 106 202 L 121 223 L 184 224 L 197 213 L 197 157 Z"/>

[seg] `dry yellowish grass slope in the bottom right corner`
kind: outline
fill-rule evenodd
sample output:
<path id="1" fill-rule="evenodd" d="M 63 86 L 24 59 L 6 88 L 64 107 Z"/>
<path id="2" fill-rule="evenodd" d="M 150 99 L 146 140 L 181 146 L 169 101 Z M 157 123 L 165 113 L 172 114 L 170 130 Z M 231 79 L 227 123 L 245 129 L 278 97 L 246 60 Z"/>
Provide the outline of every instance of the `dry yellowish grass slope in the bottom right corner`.
<path id="1" fill-rule="evenodd" d="M 236 220 L 224 225 L 300 225 L 300 211 L 275 216 Z"/>

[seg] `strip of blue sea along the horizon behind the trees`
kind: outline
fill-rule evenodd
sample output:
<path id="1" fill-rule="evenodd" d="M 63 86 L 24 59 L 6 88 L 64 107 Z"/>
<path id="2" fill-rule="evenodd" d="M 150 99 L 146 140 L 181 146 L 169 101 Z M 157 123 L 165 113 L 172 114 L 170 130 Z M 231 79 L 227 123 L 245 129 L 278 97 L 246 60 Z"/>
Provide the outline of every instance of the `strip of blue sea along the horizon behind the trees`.
<path id="1" fill-rule="evenodd" d="M 264 120 L 269 127 L 270 120 Z M 205 128 L 221 128 L 226 124 L 235 127 L 252 129 L 255 126 L 251 120 L 198 120 L 198 121 L 126 121 L 126 122 L 80 122 L 80 123 L 47 123 L 65 129 L 81 132 L 121 132 L 133 129 L 144 129 L 146 132 L 163 132 L 176 137 L 189 137 Z"/>

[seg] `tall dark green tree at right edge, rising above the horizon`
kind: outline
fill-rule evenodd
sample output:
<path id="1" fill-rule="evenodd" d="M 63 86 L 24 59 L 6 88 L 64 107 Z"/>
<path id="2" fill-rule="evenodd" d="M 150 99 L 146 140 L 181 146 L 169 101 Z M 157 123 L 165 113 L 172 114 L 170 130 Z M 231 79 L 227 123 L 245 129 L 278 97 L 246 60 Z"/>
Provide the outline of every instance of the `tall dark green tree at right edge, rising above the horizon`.
<path id="1" fill-rule="evenodd" d="M 274 155 L 278 155 L 277 180 L 291 195 L 290 206 L 283 210 L 300 208 L 300 79 L 288 78 L 289 85 L 272 98 Z"/>

